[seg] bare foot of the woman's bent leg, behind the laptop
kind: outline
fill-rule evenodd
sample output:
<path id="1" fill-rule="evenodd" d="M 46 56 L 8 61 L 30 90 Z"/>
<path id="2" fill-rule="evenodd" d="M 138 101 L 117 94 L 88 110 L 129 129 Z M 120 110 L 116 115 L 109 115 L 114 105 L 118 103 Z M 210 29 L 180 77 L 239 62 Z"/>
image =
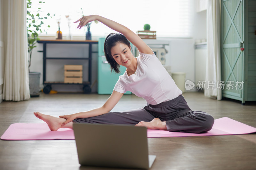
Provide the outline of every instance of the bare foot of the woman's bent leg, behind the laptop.
<path id="1" fill-rule="evenodd" d="M 159 118 L 154 118 L 150 122 L 139 122 L 135 126 L 145 126 L 147 129 L 167 130 L 166 122 L 162 122 Z"/>

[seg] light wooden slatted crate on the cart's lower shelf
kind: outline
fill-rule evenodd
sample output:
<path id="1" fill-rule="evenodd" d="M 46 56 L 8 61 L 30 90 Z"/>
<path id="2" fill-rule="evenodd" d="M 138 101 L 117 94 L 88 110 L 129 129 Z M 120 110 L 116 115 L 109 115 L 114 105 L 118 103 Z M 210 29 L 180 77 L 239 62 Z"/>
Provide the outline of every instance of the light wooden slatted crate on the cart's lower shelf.
<path id="1" fill-rule="evenodd" d="M 83 65 L 64 65 L 64 83 L 83 83 Z"/>

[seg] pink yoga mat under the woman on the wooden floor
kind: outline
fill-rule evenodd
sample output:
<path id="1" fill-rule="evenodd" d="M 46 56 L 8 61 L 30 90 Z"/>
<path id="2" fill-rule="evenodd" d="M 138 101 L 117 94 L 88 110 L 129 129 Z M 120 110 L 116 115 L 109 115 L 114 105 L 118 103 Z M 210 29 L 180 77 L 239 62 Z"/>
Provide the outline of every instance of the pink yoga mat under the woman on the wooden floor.
<path id="1" fill-rule="evenodd" d="M 185 137 L 185 136 L 213 136 L 213 135 L 238 135 L 255 133 L 256 128 L 237 122 L 228 117 L 216 119 L 212 130 L 206 133 L 182 133 L 164 130 L 148 130 L 148 138 L 160 137 Z M 52 140 L 75 139 L 72 129 L 61 128 L 58 131 L 50 131 L 47 124 L 11 124 L 1 136 L 3 140 Z"/>

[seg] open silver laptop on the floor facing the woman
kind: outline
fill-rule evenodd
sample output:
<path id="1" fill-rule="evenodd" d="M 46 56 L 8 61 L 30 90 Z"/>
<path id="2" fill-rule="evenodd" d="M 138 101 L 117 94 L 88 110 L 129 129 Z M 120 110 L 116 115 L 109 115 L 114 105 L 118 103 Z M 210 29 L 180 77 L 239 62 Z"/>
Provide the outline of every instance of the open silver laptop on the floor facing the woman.
<path id="1" fill-rule="evenodd" d="M 130 125 L 73 124 L 79 163 L 86 166 L 149 169 L 147 128 Z"/>

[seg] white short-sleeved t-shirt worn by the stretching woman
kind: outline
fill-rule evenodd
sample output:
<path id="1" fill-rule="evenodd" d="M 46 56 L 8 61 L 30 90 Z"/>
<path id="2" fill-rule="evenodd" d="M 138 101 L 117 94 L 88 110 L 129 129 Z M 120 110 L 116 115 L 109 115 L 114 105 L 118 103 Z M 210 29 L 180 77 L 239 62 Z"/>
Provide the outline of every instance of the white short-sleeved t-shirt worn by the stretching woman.
<path id="1" fill-rule="evenodd" d="M 140 53 L 136 74 L 125 72 L 119 76 L 114 90 L 120 93 L 130 91 L 144 98 L 148 104 L 159 104 L 172 100 L 182 94 L 170 74 L 157 59 L 155 53 Z"/>

